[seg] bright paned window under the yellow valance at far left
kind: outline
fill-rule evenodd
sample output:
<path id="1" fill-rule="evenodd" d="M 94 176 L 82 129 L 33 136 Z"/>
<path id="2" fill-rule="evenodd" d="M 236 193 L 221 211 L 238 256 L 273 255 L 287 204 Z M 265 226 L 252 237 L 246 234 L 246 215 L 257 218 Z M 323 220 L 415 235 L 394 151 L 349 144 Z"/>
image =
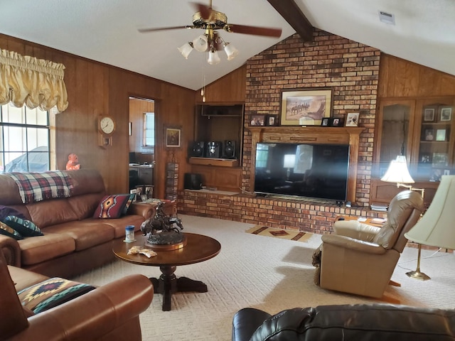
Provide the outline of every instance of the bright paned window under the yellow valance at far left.
<path id="1" fill-rule="evenodd" d="M 49 112 L 0 106 L 0 173 L 49 171 Z"/>

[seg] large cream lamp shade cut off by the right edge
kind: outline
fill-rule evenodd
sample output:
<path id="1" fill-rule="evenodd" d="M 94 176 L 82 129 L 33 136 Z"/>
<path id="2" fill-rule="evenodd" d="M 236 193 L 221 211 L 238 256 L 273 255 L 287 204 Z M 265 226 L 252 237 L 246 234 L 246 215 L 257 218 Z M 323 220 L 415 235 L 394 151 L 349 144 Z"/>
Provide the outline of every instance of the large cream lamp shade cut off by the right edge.
<path id="1" fill-rule="evenodd" d="M 455 249 L 455 175 L 442 175 L 427 212 L 405 237 L 418 244 Z"/>

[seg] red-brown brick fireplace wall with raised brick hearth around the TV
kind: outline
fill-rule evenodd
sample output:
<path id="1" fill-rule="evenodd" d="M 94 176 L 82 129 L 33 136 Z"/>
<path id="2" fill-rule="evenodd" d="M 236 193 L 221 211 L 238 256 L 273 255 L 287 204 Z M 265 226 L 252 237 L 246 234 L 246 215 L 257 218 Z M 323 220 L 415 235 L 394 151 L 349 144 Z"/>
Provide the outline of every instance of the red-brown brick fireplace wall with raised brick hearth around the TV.
<path id="1" fill-rule="evenodd" d="M 359 126 L 365 128 L 360 134 L 353 207 L 245 193 L 219 195 L 183 190 L 178 195 L 178 211 L 314 233 L 330 232 L 338 215 L 385 217 L 384 212 L 368 209 L 379 64 L 380 50 L 319 30 L 315 31 L 311 43 L 303 43 L 294 35 L 247 61 L 242 189 L 245 193 L 253 190 L 250 184 L 250 175 L 254 172 L 252 134 L 247 129 L 251 115 L 279 114 L 282 90 L 330 87 L 333 90 L 332 115 L 360 112 Z"/>

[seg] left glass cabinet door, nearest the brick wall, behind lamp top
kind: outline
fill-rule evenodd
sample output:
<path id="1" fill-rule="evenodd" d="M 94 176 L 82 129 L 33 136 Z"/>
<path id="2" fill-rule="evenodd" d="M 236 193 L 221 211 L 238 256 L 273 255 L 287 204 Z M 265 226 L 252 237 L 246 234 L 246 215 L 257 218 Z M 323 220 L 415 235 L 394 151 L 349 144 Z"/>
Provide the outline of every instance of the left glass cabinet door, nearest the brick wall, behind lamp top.
<path id="1" fill-rule="evenodd" d="M 398 155 L 406 156 L 408 163 L 412 157 L 412 129 L 414 127 L 414 107 L 412 100 L 384 100 L 380 103 L 375 139 L 375 168 L 373 177 L 381 178 L 390 161 Z"/>

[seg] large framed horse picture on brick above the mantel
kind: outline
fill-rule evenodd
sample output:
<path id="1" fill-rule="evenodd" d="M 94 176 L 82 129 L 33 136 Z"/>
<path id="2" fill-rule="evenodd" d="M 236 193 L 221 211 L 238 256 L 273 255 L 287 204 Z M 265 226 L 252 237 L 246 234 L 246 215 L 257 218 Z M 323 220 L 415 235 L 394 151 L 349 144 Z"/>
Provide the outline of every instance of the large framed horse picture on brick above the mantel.
<path id="1" fill-rule="evenodd" d="M 331 107 L 331 89 L 282 90 L 281 125 L 319 126 L 330 117 Z"/>

